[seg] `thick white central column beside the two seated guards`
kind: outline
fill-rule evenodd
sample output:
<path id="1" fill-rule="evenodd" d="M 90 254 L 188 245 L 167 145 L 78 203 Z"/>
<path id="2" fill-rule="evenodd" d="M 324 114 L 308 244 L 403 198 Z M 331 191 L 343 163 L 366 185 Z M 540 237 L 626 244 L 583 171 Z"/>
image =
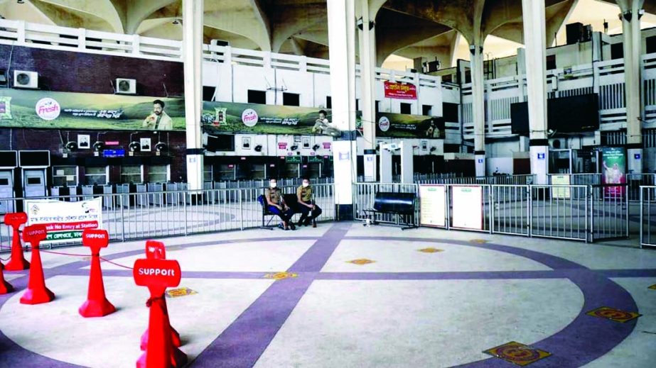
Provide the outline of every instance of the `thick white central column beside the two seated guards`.
<path id="1" fill-rule="evenodd" d="M 328 1 L 330 91 L 333 126 L 342 131 L 333 138 L 335 204 L 339 220 L 353 219 L 355 182 L 355 0 Z M 346 87 L 346 88 L 344 88 Z"/>

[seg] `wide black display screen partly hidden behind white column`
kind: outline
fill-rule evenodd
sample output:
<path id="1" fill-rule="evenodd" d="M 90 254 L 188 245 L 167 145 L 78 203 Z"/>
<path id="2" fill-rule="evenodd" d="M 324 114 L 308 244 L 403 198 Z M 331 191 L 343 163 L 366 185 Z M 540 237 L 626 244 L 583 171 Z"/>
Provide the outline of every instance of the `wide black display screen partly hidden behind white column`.
<path id="1" fill-rule="evenodd" d="M 513 134 L 528 135 L 528 102 L 510 104 Z M 599 128 L 599 98 L 597 94 L 561 97 L 547 100 L 547 128 L 556 133 L 579 133 Z"/>

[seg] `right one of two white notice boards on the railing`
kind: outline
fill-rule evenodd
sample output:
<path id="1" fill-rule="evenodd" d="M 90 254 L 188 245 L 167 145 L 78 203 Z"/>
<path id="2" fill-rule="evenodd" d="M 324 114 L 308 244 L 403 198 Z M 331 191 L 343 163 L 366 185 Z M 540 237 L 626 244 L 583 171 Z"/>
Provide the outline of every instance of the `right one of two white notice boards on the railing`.
<path id="1" fill-rule="evenodd" d="M 483 187 L 451 186 L 453 227 L 483 230 Z"/>

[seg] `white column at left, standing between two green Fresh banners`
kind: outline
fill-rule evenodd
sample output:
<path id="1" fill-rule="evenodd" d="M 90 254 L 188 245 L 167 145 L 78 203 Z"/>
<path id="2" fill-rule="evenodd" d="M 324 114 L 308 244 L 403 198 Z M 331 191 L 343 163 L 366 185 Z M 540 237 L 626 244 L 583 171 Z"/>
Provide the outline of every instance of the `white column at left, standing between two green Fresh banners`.
<path id="1" fill-rule="evenodd" d="M 187 186 L 203 189 L 203 0 L 183 0 L 183 60 L 185 72 L 185 128 Z"/>

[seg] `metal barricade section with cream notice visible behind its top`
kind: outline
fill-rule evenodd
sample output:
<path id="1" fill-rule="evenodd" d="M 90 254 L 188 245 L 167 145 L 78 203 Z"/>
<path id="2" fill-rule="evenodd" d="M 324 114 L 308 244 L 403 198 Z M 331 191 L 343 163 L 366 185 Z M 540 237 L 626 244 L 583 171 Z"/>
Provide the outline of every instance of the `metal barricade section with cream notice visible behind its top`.
<path id="1" fill-rule="evenodd" d="M 588 241 L 588 186 L 530 186 L 530 236 Z"/>

